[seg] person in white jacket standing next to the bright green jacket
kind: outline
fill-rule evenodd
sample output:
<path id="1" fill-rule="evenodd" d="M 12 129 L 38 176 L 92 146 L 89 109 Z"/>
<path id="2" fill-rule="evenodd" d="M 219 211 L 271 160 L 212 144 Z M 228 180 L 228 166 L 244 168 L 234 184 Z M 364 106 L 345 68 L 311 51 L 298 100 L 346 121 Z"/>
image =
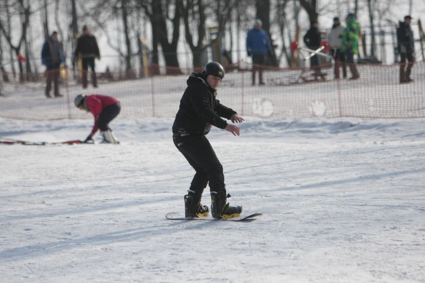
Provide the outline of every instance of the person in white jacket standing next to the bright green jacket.
<path id="1" fill-rule="evenodd" d="M 329 33 L 329 45 L 331 46 L 330 52 L 335 59 L 335 79 L 340 79 L 339 68 L 342 67 L 342 76 L 347 78 L 347 66 L 345 63 L 345 54 L 341 52 L 342 47 L 342 33 L 344 27 L 341 26 L 338 17 L 334 17 L 334 24 L 331 32 Z"/>

